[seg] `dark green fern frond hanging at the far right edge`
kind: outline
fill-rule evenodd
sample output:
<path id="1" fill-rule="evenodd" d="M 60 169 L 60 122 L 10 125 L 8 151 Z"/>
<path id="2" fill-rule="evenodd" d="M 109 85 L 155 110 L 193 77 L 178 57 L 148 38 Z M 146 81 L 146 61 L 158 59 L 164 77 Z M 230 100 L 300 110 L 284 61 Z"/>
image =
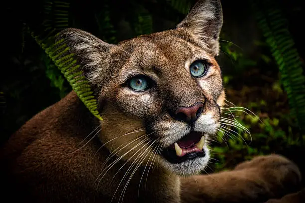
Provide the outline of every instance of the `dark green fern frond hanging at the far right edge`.
<path id="1" fill-rule="evenodd" d="M 253 1 L 258 24 L 281 73 L 281 82 L 289 99 L 292 116 L 305 132 L 305 76 L 302 62 L 278 3 Z M 258 6 L 259 5 L 259 6 Z"/>

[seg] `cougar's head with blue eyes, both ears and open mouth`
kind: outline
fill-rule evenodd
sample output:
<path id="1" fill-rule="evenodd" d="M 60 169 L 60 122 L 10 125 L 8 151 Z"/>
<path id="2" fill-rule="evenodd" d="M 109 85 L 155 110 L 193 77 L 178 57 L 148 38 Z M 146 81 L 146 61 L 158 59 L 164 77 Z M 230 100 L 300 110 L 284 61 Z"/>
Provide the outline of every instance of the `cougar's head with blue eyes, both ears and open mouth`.
<path id="1" fill-rule="evenodd" d="M 76 29 L 59 37 L 76 53 L 99 99 L 100 139 L 127 162 L 179 175 L 209 161 L 225 94 L 218 55 L 218 0 L 201 0 L 176 29 L 110 45 Z"/>

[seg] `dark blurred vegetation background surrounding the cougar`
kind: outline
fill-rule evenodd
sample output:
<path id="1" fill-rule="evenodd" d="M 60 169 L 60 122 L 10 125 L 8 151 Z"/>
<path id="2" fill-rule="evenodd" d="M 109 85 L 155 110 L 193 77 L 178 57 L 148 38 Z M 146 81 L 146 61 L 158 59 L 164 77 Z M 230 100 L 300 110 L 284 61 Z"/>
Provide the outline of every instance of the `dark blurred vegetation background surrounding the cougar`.
<path id="1" fill-rule="evenodd" d="M 4 28 L 9 42 L 5 67 L 9 68 L 0 76 L 1 141 L 71 90 L 36 44 L 29 27 L 75 27 L 117 43 L 174 28 L 194 2 L 44 0 L 8 5 Z M 255 155 L 270 153 L 284 154 L 302 168 L 305 50 L 296 19 L 302 19 L 304 8 L 297 0 L 243 3 L 240 11 L 239 3 L 223 1 L 224 28 L 217 59 L 228 105 L 223 110 L 222 130 L 211 142 L 217 160 L 211 170 L 229 169 Z"/>

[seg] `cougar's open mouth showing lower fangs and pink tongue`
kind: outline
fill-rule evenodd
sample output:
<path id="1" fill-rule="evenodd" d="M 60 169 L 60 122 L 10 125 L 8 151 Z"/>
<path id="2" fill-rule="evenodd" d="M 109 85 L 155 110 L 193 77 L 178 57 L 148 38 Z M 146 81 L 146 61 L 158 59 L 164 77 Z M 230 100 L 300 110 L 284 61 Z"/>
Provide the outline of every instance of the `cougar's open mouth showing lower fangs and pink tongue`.
<path id="1" fill-rule="evenodd" d="M 171 163 L 181 163 L 196 157 L 204 157 L 205 137 L 202 133 L 192 131 L 179 141 L 163 150 L 163 156 Z"/>

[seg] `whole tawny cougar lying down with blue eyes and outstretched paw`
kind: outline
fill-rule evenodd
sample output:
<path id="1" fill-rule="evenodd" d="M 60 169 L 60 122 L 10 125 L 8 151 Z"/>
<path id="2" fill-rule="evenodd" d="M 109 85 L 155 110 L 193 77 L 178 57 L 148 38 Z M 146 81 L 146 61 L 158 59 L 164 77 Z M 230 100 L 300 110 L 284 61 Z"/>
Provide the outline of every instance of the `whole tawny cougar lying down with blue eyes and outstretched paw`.
<path id="1" fill-rule="evenodd" d="M 232 171 L 209 163 L 225 100 L 219 0 L 199 0 L 175 29 L 108 44 L 74 28 L 64 40 L 98 100 L 74 91 L 26 122 L 1 150 L 9 202 L 264 202 L 295 192 L 298 167 L 259 156 Z M 3 191 L 3 189 L 2 189 Z"/>

